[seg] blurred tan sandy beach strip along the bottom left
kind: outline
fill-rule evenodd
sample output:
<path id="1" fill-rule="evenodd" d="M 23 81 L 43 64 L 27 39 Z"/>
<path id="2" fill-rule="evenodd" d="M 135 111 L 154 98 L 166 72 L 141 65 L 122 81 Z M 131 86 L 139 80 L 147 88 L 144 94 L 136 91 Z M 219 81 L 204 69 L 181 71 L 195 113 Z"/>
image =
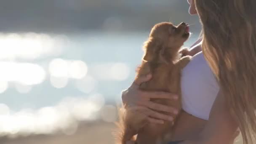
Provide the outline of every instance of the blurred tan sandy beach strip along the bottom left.
<path id="1" fill-rule="evenodd" d="M 80 123 L 73 135 L 56 133 L 53 135 L 30 135 L 0 139 L 0 144 L 114 144 L 112 131 L 115 129 L 113 123 L 92 122 Z M 235 144 L 242 144 L 238 139 Z"/>

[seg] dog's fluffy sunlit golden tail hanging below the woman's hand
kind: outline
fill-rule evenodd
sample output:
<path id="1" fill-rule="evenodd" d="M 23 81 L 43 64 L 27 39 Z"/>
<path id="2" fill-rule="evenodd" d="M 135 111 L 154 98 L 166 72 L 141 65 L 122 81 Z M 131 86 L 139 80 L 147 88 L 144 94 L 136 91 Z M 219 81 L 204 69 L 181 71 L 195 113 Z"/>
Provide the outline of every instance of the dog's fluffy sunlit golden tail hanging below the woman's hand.
<path id="1" fill-rule="evenodd" d="M 135 141 L 136 130 L 128 123 L 128 116 L 125 114 L 125 109 L 122 107 L 118 110 L 119 121 L 116 124 L 117 129 L 114 132 L 116 144 L 126 144 L 128 141 Z M 134 143 L 134 142 L 132 142 Z"/>

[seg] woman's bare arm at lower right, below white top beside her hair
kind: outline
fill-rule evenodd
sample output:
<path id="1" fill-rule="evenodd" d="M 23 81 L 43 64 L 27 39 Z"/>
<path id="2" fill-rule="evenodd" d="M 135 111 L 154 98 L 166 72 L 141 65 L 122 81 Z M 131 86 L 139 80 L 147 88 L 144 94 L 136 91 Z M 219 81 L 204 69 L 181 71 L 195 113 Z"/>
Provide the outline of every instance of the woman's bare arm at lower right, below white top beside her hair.
<path id="1" fill-rule="evenodd" d="M 194 140 L 181 144 L 233 144 L 238 135 L 237 129 L 237 123 L 230 115 L 224 96 L 219 92 L 203 131 Z"/>

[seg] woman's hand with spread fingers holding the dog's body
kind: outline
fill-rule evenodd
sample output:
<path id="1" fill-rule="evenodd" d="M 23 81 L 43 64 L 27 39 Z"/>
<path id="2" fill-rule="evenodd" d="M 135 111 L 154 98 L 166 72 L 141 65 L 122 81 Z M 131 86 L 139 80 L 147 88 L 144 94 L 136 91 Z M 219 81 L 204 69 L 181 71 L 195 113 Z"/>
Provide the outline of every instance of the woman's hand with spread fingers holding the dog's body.
<path id="1" fill-rule="evenodd" d="M 141 91 L 139 85 L 151 79 L 152 75 L 136 78 L 133 84 L 122 93 L 123 104 L 143 112 L 147 115 L 149 122 L 163 124 L 165 120 L 173 121 L 171 115 L 164 115 L 160 112 L 168 112 L 178 114 L 178 110 L 173 107 L 168 107 L 163 104 L 157 104 L 150 99 L 169 99 L 178 100 L 178 96 L 172 93 L 159 92 L 159 91 Z"/>

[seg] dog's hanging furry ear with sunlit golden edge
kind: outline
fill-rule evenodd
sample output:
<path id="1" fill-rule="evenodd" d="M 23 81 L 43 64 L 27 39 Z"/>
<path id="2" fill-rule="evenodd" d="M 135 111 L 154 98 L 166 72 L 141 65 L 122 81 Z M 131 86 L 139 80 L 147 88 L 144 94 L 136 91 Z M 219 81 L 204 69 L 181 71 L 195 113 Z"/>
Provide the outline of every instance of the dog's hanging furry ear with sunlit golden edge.
<path id="1" fill-rule="evenodd" d="M 162 46 L 162 43 L 160 42 L 159 39 L 149 37 L 149 40 L 147 40 L 144 43 L 144 56 L 143 60 L 144 61 L 152 61 L 154 57 L 157 54 L 157 51 L 160 49 Z"/>

